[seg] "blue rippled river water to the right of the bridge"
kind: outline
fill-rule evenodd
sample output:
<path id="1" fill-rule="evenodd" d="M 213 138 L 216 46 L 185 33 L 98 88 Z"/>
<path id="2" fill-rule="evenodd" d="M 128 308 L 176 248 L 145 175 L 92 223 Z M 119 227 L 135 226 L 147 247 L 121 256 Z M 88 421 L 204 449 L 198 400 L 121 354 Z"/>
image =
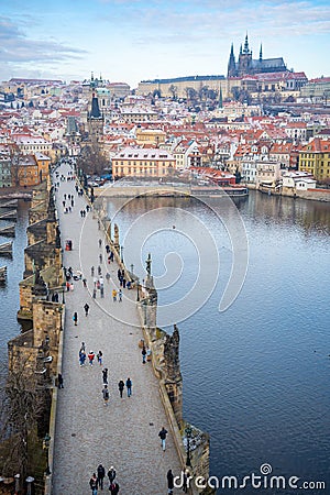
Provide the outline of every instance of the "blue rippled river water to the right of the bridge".
<path id="1" fill-rule="evenodd" d="M 286 477 L 286 487 L 297 476 L 298 483 L 328 483 L 328 492 L 311 483 L 306 493 L 330 493 L 330 206 L 252 191 L 237 208 L 249 243 L 248 273 L 234 302 L 219 312 L 233 262 L 228 231 L 240 228 L 226 207 L 219 221 L 198 200 L 108 202 L 110 218 L 120 227 L 124 261 L 133 263 L 141 279 L 152 254 L 162 315 L 193 294 L 193 300 L 183 302 L 188 317 L 175 321 L 174 310 L 173 322 L 182 338 L 184 416 L 210 433 L 211 474 L 242 481 L 270 464 L 273 475 Z M 136 232 L 143 242 L 132 242 Z M 244 243 L 242 238 L 238 250 Z M 237 260 L 240 255 L 243 251 Z M 194 305 L 196 286 L 205 293 L 201 305 Z M 218 491 L 252 492 L 297 491 Z"/>

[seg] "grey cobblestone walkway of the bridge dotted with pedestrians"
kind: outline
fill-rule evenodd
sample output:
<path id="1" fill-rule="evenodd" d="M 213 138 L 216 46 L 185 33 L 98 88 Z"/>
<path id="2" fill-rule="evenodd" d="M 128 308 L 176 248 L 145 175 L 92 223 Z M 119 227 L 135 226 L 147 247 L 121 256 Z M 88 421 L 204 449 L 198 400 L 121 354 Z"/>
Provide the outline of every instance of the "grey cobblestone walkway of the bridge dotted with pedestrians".
<path id="1" fill-rule="evenodd" d="M 69 169 L 65 164 L 58 170 L 67 175 Z M 64 194 L 75 195 L 74 209 L 66 215 L 62 204 Z M 74 272 L 81 271 L 79 238 L 84 221 L 89 235 L 84 237 L 85 248 L 88 244 L 88 258 L 84 260 L 84 265 L 88 270 L 82 266 L 88 287 L 85 288 L 82 282 L 77 280 L 74 290 L 65 293 L 64 388 L 58 391 L 52 493 L 90 494 L 89 479 L 97 465 L 102 463 L 106 472 L 111 465 L 116 468 L 120 495 L 166 494 L 166 473 L 172 469 L 178 474 L 180 465 L 170 433 L 167 436 L 166 451 L 161 449 L 158 431 L 163 425 L 168 431 L 169 427 L 151 364 L 142 364 L 139 349 L 142 331 L 135 305 L 125 299 L 122 302 L 111 300 L 113 280 L 117 283 L 116 263 L 110 267 L 110 282 L 105 280 L 105 300 L 109 305 L 118 305 L 116 308 L 119 312 L 131 311 L 130 319 L 136 326 L 129 327 L 111 318 L 97 304 L 98 299 L 90 296 L 94 286 L 90 266 L 99 264 L 98 240 L 103 239 L 102 231 L 98 230 L 92 213 L 86 219 L 80 218 L 79 212 L 86 202 L 84 198 L 77 197 L 74 180 L 61 182 L 56 202 L 63 246 L 66 239 L 73 241 L 73 251 L 64 251 L 64 265 L 72 266 Z M 124 296 L 134 300 L 136 293 L 124 290 Z M 88 317 L 84 311 L 85 302 L 90 307 Z M 74 311 L 78 312 L 77 326 L 73 321 Z M 103 352 L 103 366 L 97 360 L 94 366 L 79 366 L 78 354 L 82 341 L 86 342 L 87 353 L 90 350 L 96 354 L 99 350 Z M 101 394 L 102 367 L 109 370 L 108 406 L 105 406 Z M 128 398 L 124 391 L 123 398 L 120 398 L 118 382 L 125 382 L 128 376 L 133 383 L 132 397 Z M 108 491 L 108 486 L 107 482 L 105 491 Z"/>

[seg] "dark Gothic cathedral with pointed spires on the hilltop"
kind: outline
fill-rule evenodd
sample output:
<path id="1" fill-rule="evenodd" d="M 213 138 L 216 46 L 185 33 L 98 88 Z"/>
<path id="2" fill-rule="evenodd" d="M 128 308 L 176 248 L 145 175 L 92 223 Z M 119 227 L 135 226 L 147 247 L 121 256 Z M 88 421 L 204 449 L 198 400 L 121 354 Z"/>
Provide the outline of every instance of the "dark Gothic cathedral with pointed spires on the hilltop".
<path id="1" fill-rule="evenodd" d="M 233 44 L 231 45 L 228 63 L 228 77 L 242 77 L 262 73 L 286 73 L 289 72 L 282 57 L 263 58 L 263 47 L 260 47 L 258 58 L 252 58 L 252 50 L 249 47 L 248 34 L 244 46 L 240 47 L 239 59 L 235 61 Z"/>

